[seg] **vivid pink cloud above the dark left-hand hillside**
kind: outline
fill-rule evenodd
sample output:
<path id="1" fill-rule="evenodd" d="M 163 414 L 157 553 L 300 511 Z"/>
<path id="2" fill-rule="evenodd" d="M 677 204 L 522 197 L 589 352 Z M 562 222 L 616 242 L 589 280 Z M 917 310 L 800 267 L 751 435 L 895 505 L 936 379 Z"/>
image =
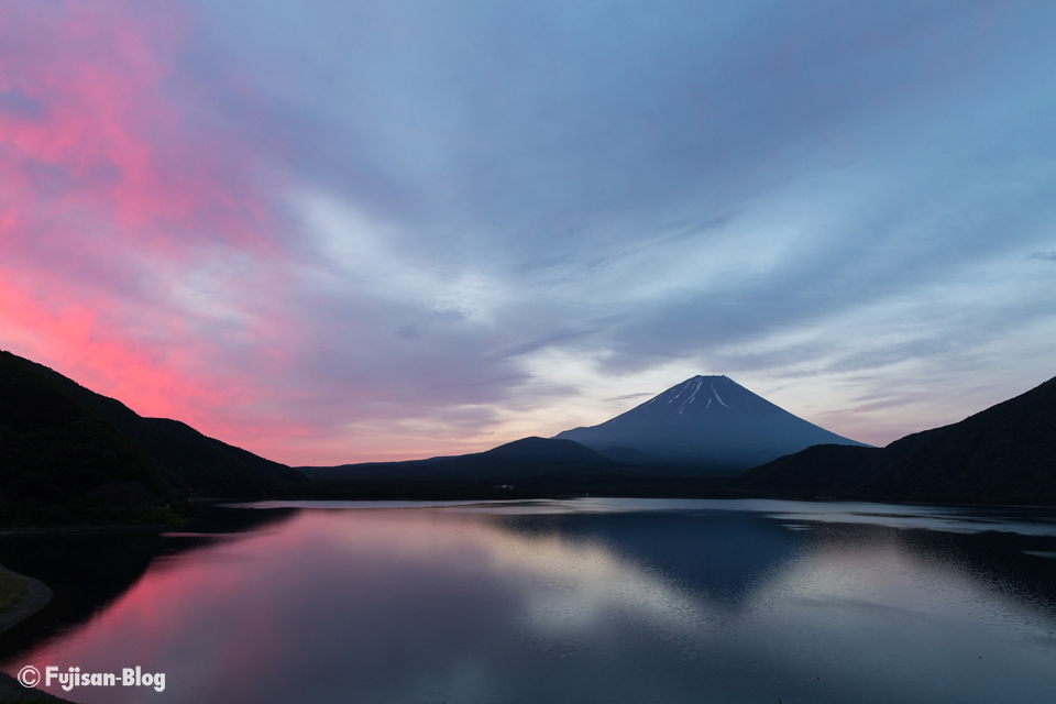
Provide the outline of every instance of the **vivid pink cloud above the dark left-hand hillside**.
<path id="1" fill-rule="evenodd" d="M 282 248 L 253 150 L 190 117 L 200 106 L 177 58 L 191 33 L 168 4 L 0 15 L 0 343 L 141 414 L 231 432 L 239 422 L 216 409 L 252 403 L 251 380 L 208 361 L 233 338 L 276 337 L 275 321 L 250 319 L 237 297 L 218 323 L 179 292 L 204 264 Z M 275 271 L 240 285 L 274 288 Z"/>

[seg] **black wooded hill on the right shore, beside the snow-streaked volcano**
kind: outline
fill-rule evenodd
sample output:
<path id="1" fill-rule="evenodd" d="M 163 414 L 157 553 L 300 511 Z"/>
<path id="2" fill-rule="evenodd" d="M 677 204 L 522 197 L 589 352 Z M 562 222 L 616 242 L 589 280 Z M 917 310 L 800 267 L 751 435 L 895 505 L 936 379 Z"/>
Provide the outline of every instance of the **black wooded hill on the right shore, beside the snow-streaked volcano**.
<path id="1" fill-rule="evenodd" d="M 804 497 L 1056 503 L 1056 378 L 883 449 L 809 448 L 745 473 L 738 486 Z"/>

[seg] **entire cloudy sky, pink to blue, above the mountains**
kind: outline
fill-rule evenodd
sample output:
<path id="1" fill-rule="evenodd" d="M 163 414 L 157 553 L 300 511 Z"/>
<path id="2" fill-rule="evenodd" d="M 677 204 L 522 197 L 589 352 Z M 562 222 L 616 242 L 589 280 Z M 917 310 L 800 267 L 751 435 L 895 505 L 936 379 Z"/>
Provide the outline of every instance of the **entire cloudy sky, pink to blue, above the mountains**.
<path id="1" fill-rule="evenodd" d="M 294 465 L 1056 375 L 1056 4 L 0 0 L 0 348 Z"/>

